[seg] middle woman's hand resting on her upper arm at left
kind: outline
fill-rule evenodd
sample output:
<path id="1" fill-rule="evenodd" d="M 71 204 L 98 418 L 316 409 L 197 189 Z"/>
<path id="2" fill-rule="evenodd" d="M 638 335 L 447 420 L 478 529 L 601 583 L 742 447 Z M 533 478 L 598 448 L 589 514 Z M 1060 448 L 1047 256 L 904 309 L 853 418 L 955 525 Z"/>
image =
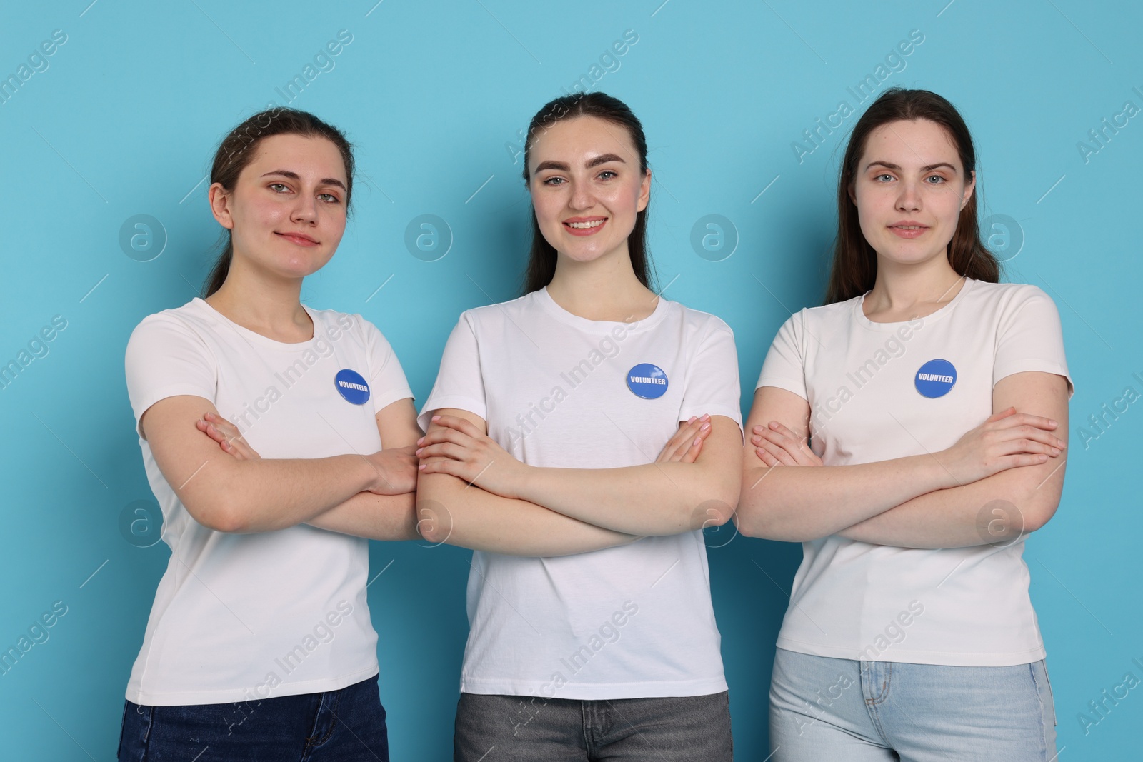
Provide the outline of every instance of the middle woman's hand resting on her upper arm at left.
<path id="1" fill-rule="evenodd" d="M 433 416 L 438 428 L 417 440 L 423 474 L 451 474 L 493 495 L 519 499 L 528 466 L 520 463 L 475 425 L 454 416 Z M 426 458 L 443 460 L 425 463 Z"/>

